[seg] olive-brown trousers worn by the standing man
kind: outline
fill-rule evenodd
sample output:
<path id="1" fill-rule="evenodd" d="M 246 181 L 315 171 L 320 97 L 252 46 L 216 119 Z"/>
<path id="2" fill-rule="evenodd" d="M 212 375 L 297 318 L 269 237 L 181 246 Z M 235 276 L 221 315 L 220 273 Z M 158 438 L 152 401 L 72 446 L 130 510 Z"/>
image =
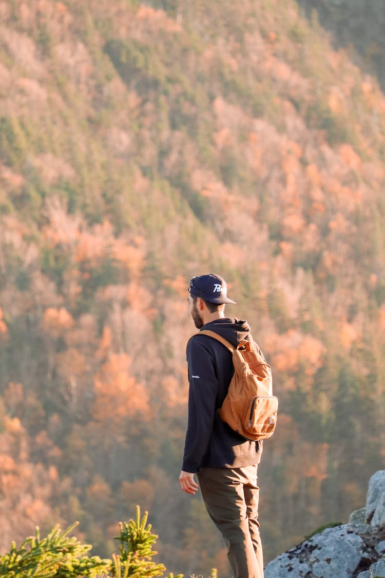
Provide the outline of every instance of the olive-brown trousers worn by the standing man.
<path id="1" fill-rule="evenodd" d="M 207 512 L 225 538 L 234 578 L 263 578 L 257 466 L 200 468 L 197 477 Z"/>

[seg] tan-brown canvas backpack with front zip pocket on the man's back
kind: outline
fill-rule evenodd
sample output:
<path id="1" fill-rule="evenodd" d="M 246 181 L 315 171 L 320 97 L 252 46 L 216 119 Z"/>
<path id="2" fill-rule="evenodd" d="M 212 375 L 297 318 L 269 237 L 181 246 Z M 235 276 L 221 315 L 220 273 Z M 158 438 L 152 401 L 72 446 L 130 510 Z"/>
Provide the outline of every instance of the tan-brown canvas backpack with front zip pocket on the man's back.
<path id="1" fill-rule="evenodd" d="M 233 354 L 234 375 L 218 410 L 222 420 L 246 439 L 270 438 L 275 430 L 278 398 L 272 395 L 270 365 L 257 351 L 253 340 L 245 339 L 234 347 L 227 339 L 208 329 L 196 335 L 208 335 L 218 340 Z"/>

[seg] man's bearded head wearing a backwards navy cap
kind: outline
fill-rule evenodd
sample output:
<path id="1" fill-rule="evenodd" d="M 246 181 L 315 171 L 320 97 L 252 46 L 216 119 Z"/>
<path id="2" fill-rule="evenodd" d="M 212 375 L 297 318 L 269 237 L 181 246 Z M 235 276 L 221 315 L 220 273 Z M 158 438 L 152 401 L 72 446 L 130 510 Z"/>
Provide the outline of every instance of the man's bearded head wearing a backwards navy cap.
<path id="1" fill-rule="evenodd" d="M 225 279 L 214 273 L 190 279 L 188 301 L 197 329 L 208 321 L 224 317 L 225 303 L 235 303 L 227 297 Z"/>

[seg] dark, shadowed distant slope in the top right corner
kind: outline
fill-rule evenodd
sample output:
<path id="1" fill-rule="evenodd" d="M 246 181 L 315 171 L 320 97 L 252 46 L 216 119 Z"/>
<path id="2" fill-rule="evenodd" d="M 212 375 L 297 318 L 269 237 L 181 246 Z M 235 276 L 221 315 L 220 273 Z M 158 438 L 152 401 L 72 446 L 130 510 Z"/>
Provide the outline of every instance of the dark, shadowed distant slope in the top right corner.
<path id="1" fill-rule="evenodd" d="M 383 0 L 298 0 L 307 16 L 316 10 L 336 47 L 354 46 L 358 64 L 375 73 L 385 88 L 385 2 Z"/>

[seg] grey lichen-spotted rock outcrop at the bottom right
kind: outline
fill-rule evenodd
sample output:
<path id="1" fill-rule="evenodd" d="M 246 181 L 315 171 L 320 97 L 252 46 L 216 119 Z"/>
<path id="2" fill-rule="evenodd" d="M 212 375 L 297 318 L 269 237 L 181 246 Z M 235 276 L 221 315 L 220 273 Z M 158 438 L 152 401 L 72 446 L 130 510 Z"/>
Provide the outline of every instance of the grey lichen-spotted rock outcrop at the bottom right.
<path id="1" fill-rule="evenodd" d="M 265 578 L 385 578 L 385 470 L 369 481 L 365 508 L 266 566 Z"/>

